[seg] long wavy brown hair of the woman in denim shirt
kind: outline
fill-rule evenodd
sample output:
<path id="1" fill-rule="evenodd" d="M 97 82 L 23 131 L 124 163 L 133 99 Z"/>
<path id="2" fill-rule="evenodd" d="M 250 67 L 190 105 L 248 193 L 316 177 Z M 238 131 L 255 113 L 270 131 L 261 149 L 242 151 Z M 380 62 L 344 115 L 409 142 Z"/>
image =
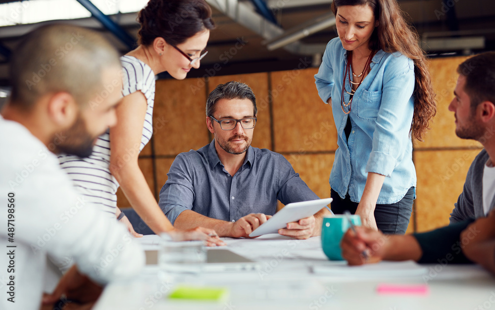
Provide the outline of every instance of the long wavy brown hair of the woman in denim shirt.
<path id="1" fill-rule="evenodd" d="M 411 133 L 413 138 L 422 141 L 437 113 L 437 103 L 425 52 L 419 46 L 416 30 L 406 23 L 396 0 L 334 0 L 331 8 L 335 15 L 342 5 L 368 5 L 373 11 L 379 23 L 371 35 L 370 49 L 383 49 L 388 53 L 398 51 L 414 61 L 416 83 Z"/>

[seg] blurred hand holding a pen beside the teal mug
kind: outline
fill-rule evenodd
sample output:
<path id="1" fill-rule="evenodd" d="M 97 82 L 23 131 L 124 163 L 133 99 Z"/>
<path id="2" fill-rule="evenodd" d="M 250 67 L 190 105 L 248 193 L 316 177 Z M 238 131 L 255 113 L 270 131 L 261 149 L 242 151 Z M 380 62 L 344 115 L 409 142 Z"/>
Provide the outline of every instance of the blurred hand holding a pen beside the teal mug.
<path id="1" fill-rule="evenodd" d="M 342 238 L 342 257 L 349 265 L 377 263 L 383 260 L 389 251 L 389 237 L 373 228 L 362 226 L 355 228 L 357 236 L 349 228 Z M 363 251 L 366 251 L 368 259 L 363 257 Z"/>

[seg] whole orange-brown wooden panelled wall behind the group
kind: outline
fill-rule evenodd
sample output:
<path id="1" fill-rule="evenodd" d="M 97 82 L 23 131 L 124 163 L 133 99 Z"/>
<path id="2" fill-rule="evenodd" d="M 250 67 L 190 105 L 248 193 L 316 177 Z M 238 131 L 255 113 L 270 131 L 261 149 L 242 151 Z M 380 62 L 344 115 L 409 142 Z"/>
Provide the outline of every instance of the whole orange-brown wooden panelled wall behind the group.
<path id="1" fill-rule="evenodd" d="M 448 224 L 467 170 L 480 151 L 479 143 L 455 135 L 454 116 L 448 111 L 457 80 L 456 67 L 465 58 L 430 60 L 438 112 L 425 142 L 415 143 L 418 197 L 408 232 L 414 230 L 414 219 L 418 231 Z M 271 149 L 273 143 L 275 151 L 284 154 L 318 196 L 329 197 L 328 178 L 334 161 L 333 151 L 337 148 L 337 133 L 330 106 L 318 97 L 313 78 L 316 72 L 317 69 L 309 68 L 212 77 L 208 89 L 203 79 L 157 81 L 153 119 L 155 153 L 148 143 L 139 160 L 151 189 L 154 190 L 153 173 L 158 190 L 163 186 L 175 155 L 209 142 L 204 124 L 207 93 L 218 84 L 235 80 L 247 83 L 257 98 L 258 123 L 252 145 Z M 270 89 L 272 109 L 268 97 Z M 154 172 L 151 156 L 156 158 Z M 129 206 L 120 191 L 118 205 Z"/>

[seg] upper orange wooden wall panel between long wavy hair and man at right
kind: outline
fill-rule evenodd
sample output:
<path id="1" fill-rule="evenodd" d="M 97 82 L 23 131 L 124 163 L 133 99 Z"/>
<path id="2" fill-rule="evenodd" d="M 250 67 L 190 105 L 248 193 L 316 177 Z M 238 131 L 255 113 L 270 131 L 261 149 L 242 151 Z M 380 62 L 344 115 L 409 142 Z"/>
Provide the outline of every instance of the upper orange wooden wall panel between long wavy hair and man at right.
<path id="1" fill-rule="evenodd" d="M 437 93 L 437 115 L 433 120 L 431 130 L 425 136 L 424 142 L 415 142 L 414 147 L 463 147 L 480 146 L 474 140 L 463 140 L 455 135 L 454 113 L 448 110 L 448 105 L 454 97 L 453 91 L 457 83 L 457 66 L 467 57 L 449 57 L 430 60 L 432 82 Z"/>

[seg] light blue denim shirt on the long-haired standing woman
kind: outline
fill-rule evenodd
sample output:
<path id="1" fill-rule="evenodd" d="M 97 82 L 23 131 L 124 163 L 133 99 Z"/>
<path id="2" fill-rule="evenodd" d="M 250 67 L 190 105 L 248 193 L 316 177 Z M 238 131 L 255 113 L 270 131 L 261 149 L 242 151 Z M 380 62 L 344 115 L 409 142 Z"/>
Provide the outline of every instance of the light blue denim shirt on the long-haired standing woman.
<path id="1" fill-rule="evenodd" d="M 416 186 L 410 135 L 414 112 L 414 63 L 399 52 L 379 50 L 372 59 L 371 71 L 354 93 L 351 112 L 341 108 L 341 93 L 347 50 L 339 38 L 332 39 L 323 62 L 314 76 L 316 88 L 326 103 L 332 98 L 332 112 L 338 132 L 330 186 L 342 198 L 359 202 L 368 172 L 385 176 L 378 204 L 401 200 Z M 346 90 L 350 92 L 349 82 Z M 349 102 L 349 95 L 344 92 Z M 346 109 L 347 111 L 347 109 Z M 352 131 L 347 141 L 344 129 L 350 117 Z"/>

